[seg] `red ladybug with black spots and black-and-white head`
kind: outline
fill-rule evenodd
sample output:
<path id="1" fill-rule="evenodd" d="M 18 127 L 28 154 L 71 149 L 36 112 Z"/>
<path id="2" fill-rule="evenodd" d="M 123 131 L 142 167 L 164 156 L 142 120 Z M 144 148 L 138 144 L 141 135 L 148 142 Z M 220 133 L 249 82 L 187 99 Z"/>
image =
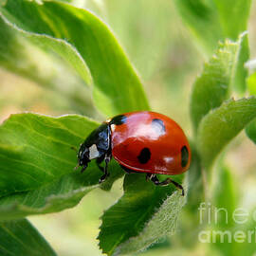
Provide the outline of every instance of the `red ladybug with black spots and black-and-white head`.
<path id="1" fill-rule="evenodd" d="M 100 183 L 108 173 L 112 156 L 127 173 L 146 173 L 155 185 L 173 183 L 168 177 L 159 181 L 156 174 L 182 174 L 190 167 L 191 150 L 180 126 L 162 114 L 150 111 L 130 112 L 104 121 L 82 143 L 78 153 L 78 168 L 83 172 L 92 159 L 103 172 Z M 101 162 L 105 162 L 104 168 Z"/>

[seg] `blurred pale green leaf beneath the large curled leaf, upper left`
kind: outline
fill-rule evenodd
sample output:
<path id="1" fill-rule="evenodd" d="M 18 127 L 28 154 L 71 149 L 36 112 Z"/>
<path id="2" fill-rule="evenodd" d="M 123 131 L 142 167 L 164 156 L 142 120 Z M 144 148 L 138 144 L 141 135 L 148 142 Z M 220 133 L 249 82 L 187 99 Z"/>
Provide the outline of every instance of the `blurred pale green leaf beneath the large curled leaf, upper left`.
<path id="1" fill-rule="evenodd" d="M 46 36 L 32 37 L 31 34 L 24 31 L 17 31 L 6 24 L 1 16 L 0 38 L 1 66 L 37 82 L 45 89 L 57 92 L 80 113 L 88 115 L 93 112 L 90 99 L 86 95 L 88 90 L 82 87 L 82 79 L 76 74 L 74 68 L 70 68 L 67 62 L 46 48 L 46 46 L 49 48 L 50 45 L 59 52 L 64 50 L 63 55 L 67 57 L 68 62 L 75 64 L 75 68 L 81 72 L 83 79 L 89 82 L 91 79 L 86 64 L 82 62 L 82 58 L 77 55 L 77 51 L 72 46 L 65 44 L 64 41 L 56 41 Z M 36 43 L 38 38 L 45 44 L 31 43 L 31 39 Z M 86 109 L 84 109 L 84 104 Z"/>

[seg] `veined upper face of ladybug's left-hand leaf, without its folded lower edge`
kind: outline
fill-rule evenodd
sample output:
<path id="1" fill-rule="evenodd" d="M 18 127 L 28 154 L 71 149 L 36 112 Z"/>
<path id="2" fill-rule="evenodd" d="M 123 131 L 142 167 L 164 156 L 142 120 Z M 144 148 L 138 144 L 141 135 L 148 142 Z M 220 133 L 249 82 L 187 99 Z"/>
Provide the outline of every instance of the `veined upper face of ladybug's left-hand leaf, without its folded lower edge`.
<path id="1" fill-rule="evenodd" d="M 73 173 L 76 153 L 99 123 L 70 115 L 11 115 L 0 127 L 0 196 L 26 192 Z"/>

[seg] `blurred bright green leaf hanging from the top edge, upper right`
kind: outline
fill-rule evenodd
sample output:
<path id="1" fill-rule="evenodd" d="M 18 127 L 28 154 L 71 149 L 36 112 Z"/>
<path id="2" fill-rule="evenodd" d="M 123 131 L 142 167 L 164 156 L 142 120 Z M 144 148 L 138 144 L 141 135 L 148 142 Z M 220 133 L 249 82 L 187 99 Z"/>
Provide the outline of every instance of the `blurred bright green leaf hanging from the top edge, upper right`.
<path id="1" fill-rule="evenodd" d="M 251 0 L 175 0 L 174 3 L 192 34 L 210 55 L 218 41 L 236 40 L 247 30 Z"/>

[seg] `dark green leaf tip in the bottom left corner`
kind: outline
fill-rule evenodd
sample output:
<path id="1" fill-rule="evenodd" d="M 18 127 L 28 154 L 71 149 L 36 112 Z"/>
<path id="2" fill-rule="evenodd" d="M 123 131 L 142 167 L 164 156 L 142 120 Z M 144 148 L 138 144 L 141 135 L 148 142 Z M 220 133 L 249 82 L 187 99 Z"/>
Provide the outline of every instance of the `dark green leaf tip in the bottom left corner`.
<path id="1" fill-rule="evenodd" d="M 54 256 L 56 253 L 26 219 L 0 222 L 2 256 Z"/>

